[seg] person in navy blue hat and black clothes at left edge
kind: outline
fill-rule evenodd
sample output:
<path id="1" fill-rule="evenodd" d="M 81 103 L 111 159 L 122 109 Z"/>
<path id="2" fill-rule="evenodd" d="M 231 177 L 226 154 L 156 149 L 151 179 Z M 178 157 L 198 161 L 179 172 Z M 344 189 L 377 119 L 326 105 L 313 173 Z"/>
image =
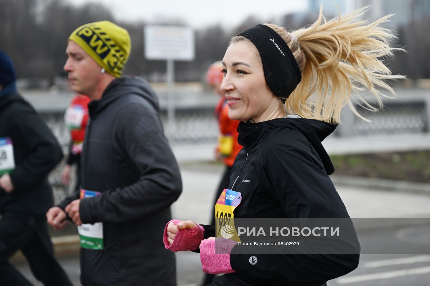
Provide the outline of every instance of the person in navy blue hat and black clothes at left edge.
<path id="1" fill-rule="evenodd" d="M 32 285 L 8 261 L 18 249 L 44 285 L 72 285 L 55 260 L 45 219 L 53 204 L 48 173 L 63 153 L 45 122 L 18 94 L 15 69 L 3 51 L 0 122 L 0 285 Z"/>

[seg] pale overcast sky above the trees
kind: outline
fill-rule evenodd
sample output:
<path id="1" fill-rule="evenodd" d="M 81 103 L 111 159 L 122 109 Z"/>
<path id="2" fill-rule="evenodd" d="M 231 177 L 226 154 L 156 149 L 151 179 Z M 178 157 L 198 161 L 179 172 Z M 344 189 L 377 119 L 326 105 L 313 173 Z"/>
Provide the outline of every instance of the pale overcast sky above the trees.
<path id="1" fill-rule="evenodd" d="M 88 2 L 103 3 L 118 20 L 181 18 L 192 27 L 221 23 L 224 27 L 239 24 L 249 15 L 264 21 L 291 12 L 304 12 L 304 0 L 69 0 L 74 5 Z"/>

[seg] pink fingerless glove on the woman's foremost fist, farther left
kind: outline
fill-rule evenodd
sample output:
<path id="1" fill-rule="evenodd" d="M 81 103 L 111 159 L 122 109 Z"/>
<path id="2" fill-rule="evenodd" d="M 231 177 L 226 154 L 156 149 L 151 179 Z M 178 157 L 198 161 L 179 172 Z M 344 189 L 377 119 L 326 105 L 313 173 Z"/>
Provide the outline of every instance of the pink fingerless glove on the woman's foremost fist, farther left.
<path id="1" fill-rule="evenodd" d="M 177 225 L 181 221 L 178 219 L 172 219 L 170 222 L 173 222 L 175 225 Z M 197 227 L 195 228 L 179 230 L 175 236 L 175 239 L 173 240 L 172 245 L 170 245 L 169 237 L 167 236 L 167 225 L 169 225 L 170 222 L 168 222 L 166 224 L 166 227 L 164 228 L 164 247 L 169 250 L 172 250 L 173 252 L 194 250 L 199 247 L 200 242 L 203 239 L 203 234 L 205 233 L 205 229 L 203 228 L 203 226 L 197 225 L 196 223 Z"/>

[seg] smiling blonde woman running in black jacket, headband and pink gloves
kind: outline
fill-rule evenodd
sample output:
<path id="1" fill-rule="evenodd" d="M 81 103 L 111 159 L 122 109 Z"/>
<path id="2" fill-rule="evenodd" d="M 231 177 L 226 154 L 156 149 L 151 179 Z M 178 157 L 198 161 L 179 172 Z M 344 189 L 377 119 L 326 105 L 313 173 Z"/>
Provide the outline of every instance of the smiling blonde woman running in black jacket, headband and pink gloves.
<path id="1" fill-rule="evenodd" d="M 353 105 L 373 108 L 362 91 L 371 91 L 382 105 L 379 89 L 394 93 L 384 80 L 403 78 L 383 62 L 395 50 L 389 45 L 395 36 L 381 27 L 390 16 L 367 23 L 359 20 L 365 11 L 330 21 L 320 11 L 314 24 L 292 32 L 259 24 L 230 40 L 221 90 L 230 119 L 242 121 L 243 149 L 215 216 L 349 218 L 329 178 L 334 167 L 321 141 L 335 130 L 344 106 L 364 119 Z M 321 286 L 359 262 L 359 253 L 230 254 L 238 247 L 234 242 L 230 252 L 215 253 L 215 229 L 172 220 L 163 239 L 172 251 L 200 251 L 204 272 L 225 273 L 213 285 Z"/>

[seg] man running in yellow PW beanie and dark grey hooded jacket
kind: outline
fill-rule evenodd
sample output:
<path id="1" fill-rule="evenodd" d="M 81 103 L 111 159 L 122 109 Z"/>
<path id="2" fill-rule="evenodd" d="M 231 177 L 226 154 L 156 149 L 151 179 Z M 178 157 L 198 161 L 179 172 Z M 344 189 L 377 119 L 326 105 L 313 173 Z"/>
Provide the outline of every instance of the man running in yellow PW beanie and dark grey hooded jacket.
<path id="1" fill-rule="evenodd" d="M 71 33 L 64 70 L 86 94 L 89 124 L 80 192 L 46 214 L 55 229 L 78 225 L 83 285 L 176 285 L 175 256 L 164 248 L 164 222 L 181 194 L 178 164 L 143 79 L 120 77 L 129 33 L 109 21 Z"/>

